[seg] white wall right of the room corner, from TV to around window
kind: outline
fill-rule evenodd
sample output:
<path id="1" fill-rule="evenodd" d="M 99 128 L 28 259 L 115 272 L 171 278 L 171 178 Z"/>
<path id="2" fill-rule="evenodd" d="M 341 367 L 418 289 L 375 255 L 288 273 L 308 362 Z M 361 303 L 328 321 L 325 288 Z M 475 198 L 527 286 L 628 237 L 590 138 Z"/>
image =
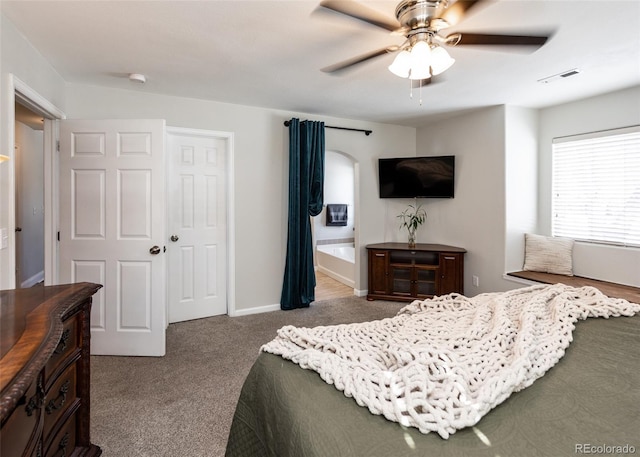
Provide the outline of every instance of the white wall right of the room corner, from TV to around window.
<path id="1" fill-rule="evenodd" d="M 554 137 L 640 124 L 640 87 L 542 110 L 487 108 L 418 130 L 417 155 L 456 156 L 456 197 L 424 200 L 418 241 L 466 248 L 465 293 L 518 287 L 524 233 L 551 231 Z M 398 212 L 397 204 L 394 212 Z M 640 249 L 576 243 L 574 273 L 640 286 Z M 471 276 L 480 286 L 471 285 Z"/>

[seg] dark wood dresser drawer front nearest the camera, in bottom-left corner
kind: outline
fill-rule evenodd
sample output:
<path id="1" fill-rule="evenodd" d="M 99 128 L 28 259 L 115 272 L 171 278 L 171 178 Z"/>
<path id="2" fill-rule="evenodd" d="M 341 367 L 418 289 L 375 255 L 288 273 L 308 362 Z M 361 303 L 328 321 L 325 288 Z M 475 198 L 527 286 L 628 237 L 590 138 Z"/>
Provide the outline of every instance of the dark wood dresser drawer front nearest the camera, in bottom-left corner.
<path id="1" fill-rule="evenodd" d="M 25 449 L 35 446 L 43 397 L 41 384 L 34 382 L 20 398 L 17 408 L 2 424 L 1 456 L 21 456 Z"/>

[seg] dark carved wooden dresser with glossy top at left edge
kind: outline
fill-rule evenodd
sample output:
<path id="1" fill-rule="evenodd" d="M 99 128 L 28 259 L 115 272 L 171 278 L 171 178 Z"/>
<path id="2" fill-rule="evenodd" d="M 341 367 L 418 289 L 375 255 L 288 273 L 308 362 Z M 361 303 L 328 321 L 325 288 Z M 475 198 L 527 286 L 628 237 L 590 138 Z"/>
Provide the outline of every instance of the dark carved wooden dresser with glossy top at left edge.
<path id="1" fill-rule="evenodd" d="M 0 291 L 2 457 L 102 453 L 89 437 L 89 319 L 101 287 Z"/>

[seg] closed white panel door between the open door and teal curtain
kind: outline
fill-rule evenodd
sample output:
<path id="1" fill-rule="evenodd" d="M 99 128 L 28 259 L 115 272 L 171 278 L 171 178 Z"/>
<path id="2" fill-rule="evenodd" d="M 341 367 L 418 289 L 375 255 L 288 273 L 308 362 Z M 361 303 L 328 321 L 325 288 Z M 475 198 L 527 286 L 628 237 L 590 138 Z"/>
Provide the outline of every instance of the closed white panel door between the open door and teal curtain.
<path id="1" fill-rule="evenodd" d="M 169 129 L 169 322 L 227 313 L 229 138 Z"/>

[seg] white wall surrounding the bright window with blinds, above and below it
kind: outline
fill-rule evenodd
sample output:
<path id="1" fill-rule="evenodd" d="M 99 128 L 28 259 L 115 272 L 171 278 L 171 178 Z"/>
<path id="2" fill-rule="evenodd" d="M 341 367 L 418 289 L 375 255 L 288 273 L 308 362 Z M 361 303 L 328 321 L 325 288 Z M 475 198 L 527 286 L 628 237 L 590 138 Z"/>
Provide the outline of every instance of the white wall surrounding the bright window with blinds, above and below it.
<path id="1" fill-rule="evenodd" d="M 551 143 L 553 138 L 640 125 L 640 86 L 540 111 L 539 227 L 551 233 Z M 574 273 L 640 286 L 640 249 L 586 243 L 574 247 Z"/>

